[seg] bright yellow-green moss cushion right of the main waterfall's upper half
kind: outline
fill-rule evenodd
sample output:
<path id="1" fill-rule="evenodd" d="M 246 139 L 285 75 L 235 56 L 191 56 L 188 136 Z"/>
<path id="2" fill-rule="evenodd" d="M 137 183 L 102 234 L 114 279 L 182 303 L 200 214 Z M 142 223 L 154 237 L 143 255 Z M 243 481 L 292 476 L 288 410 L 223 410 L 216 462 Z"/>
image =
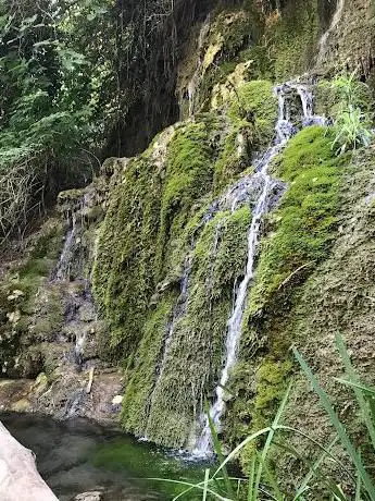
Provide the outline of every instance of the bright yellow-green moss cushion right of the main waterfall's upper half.
<path id="1" fill-rule="evenodd" d="M 274 231 L 262 243 L 250 315 L 299 267 L 325 258 L 336 234 L 339 166 L 329 134 L 318 126 L 301 131 L 283 154 L 277 173 L 289 188 L 268 221 Z"/>

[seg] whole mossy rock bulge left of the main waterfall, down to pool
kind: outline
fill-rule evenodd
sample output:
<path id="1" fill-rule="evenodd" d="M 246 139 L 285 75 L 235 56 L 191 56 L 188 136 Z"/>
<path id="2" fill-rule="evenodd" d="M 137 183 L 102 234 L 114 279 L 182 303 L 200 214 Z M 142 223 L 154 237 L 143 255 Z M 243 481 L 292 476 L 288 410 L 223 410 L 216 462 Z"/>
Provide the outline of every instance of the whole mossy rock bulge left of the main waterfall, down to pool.
<path id="1" fill-rule="evenodd" d="M 124 426 L 172 447 L 195 432 L 218 377 L 247 258 L 251 204 L 232 212 L 217 196 L 249 169 L 277 115 L 270 82 L 238 91 L 223 114 L 177 124 L 129 161 L 99 240 L 93 291 L 126 367 Z"/>

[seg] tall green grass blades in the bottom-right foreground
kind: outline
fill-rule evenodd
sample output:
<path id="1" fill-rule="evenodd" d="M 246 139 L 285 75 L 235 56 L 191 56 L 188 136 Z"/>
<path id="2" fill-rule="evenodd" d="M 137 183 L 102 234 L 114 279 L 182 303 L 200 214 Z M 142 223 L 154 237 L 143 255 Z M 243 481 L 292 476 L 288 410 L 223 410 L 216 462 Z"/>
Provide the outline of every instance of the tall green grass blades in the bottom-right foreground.
<path id="1" fill-rule="evenodd" d="M 182 482 L 171 479 L 159 479 L 170 481 L 183 488 L 183 490 L 173 499 L 193 499 L 193 500 L 220 500 L 220 501 L 307 501 L 307 500 L 338 500 L 338 501 L 375 501 L 375 484 L 371 475 L 372 465 L 367 464 L 364 457 L 375 457 L 375 389 L 362 383 L 357 376 L 346 349 L 342 338 L 337 334 L 336 345 L 342 359 L 346 377 L 336 379 L 340 384 L 349 387 L 353 391 L 353 401 L 357 402 L 358 410 L 366 433 L 362 438 L 362 445 L 370 449 L 370 453 L 361 454 L 352 441 L 345 425 L 338 417 L 333 407 L 327 393 L 320 386 L 311 368 L 298 352 L 293 349 L 293 354 L 299 363 L 307 379 L 314 389 L 320 399 L 327 418 L 335 430 L 335 438 L 330 443 L 318 443 L 307 433 L 288 427 L 283 424 L 283 417 L 287 406 L 291 386 L 289 386 L 278 412 L 268 427 L 261 429 L 236 447 L 226 457 L 223 455 L 221 443 L 211 423 L 212 441 L 218 460 L 218 466 L 207 468 L 204 478 L 201 481 Z M 291 444 L 291 436 L 298 436 L 305 442 L 314 444 L 317 454 L 312 461 L 307 460 Z M 262 439 L 262 440 L 260 440 Z M 264 445 L 259 449 L 259 441 Z M 235 462 L 241 451 L 249 444 L 253 444 L 249 471 L 243 477 L 233 477 L 228 473 L 228 465 Z M 339 445 L 345 450 L 347 459 L 345 464 L 334 455 L 333 451 Z M 305 469 L 302 479 L 296 482 L 295 488 L 286 489 L 285 479 L 277 477 L 277 469 L 271 461 L 273 451 L 278 449 L 278 454 L 285 454 L 289 459 L 298 460 Z M 367 460 L 368 461 L 368 460 Z M 327 464 L 334 465 L 334 468 L 327 468 Z M 345 488 L 342 487 L 345 478 Z M 283 480 L 283 481 L 282 481 Z M 290 482 L 289 482 L 290 484 Z"/>

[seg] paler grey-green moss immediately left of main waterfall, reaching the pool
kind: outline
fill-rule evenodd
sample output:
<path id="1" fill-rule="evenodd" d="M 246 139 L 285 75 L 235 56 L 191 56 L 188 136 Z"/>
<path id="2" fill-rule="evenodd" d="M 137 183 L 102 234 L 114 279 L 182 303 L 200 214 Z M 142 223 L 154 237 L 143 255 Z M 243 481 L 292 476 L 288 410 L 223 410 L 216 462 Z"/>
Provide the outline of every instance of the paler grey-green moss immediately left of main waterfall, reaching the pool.
<path id="1" fill-rule="evenodd" d="M 218 375 L 233 283 L 241 276 L 247 256 L 248 207 L 235 213 L 218 212 L 204 227 L 197 224 L 201 217 L 202 211 L 180 235 L 192 245 L 187 298 L 167 289 L 160 293 L 125 395 L 126 429 L 168 447 L 186 444 L 202 411 L 204 389 Z M 165 353 L 163 343 L 172 325 Z"/>

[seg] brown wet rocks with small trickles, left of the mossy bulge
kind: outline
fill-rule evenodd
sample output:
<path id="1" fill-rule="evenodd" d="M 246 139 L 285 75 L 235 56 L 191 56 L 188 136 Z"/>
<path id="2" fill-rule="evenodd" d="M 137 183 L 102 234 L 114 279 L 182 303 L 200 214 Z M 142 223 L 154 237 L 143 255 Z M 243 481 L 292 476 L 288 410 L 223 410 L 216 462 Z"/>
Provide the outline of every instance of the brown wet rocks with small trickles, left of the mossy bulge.
<path id="1" fill-rule="evenodd" d="M 111 175 L 116 169 L 118 161 Z M 105 171 L 87 188 L 60 194 L 61 216 L 55 221 L 65 228 L 65 236 L 59 237 L 53 259 L 47 262 L 45 247 L 54 234 L 48 228 L 28 244 L 24 262 L 10 264 L 4 273 L 10 313 L 3 338 L 11 340 L 8 345 L 15 355 L 13 359 L 7 355 L 2 366 L 1 411 L 59 419 L 87 417 L 105 424 L 117 419 L 121 404 L 112 400 L 123 393 L 122 376 L 101 359 L 107 325 L 98 318 L 90 290 L 95 241 L 110 182 Z"/>

